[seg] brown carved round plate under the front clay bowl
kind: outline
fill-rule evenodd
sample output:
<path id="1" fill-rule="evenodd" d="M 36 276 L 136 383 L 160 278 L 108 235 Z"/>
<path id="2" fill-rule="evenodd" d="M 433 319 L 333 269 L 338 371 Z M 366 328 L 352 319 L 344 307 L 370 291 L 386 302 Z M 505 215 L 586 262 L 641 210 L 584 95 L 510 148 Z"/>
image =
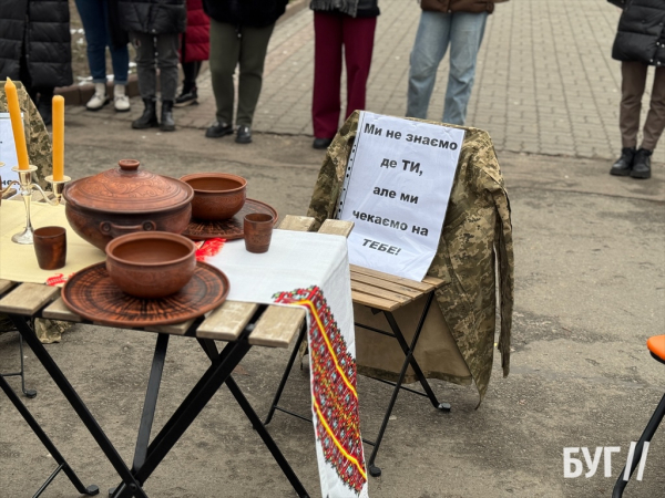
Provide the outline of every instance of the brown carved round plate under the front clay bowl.
<path id="1" fill-rule="evenodd" d="M 140 299 L 113 283 L 106 263 L 78 271 L 62 288 L 62 300 L 74 313 L 111 326 L 140 328 L 181 323 L 217 308 L 228 295 L 228 279 L 215 267 L 197 261 L 192 280 L 173 295 Z"/>

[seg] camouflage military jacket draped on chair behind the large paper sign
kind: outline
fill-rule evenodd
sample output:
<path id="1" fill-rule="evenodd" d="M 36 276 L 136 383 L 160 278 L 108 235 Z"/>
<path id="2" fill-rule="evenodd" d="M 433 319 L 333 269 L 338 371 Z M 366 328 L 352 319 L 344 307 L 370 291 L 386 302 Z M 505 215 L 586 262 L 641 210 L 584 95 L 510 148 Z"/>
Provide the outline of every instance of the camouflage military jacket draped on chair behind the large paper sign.
<path id="1" fill-rule="evenodd" d="M 358 120 L 359 112 L 351 114 L 324 159 L 308 211 L 308 216 L 317 220 L 315 229 L 325 219 L 334 217 Z M 503 375 L 510 371 L 512 226 L 510 203 L 490 136 L 478 128 L 463 129 L 464 143 L 450 204 L 428 274 L 446 281 L 437 290 L 437 301 L 482 400 L 492 372 L 497 284 L 500 289 L 499 351 Z"/>

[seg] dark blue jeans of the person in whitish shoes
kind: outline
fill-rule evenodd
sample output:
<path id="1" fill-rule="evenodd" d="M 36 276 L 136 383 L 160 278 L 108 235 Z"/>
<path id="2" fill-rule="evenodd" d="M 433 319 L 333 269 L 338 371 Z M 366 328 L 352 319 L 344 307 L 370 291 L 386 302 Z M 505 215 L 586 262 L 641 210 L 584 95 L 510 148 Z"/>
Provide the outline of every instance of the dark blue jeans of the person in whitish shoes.
<path id="1" fill-rule="evenodd" d="M 92 82 L 106 83 L 106 46 L 109 46 L 114 83 L 127 84 L 130 52 L 126 45 L 114 48 L 111 42 L 108 0 L 76 0 L 76 9 L 85 30 L 88 64 Z"/>

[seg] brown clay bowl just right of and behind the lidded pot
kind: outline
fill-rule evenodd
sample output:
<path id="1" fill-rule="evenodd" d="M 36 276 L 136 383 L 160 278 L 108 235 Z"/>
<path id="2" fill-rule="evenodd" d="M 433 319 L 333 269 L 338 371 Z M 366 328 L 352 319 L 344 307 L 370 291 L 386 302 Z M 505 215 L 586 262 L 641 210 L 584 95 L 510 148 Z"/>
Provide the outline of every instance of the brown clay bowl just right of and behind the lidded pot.
<path id="1" fill-rule="evenodd" d="M 219 221 L 233 218 L 244 206 L 247 180 L 226 173 L 194 173 L 181 181 L 194 189 L 192 218 Z"/>

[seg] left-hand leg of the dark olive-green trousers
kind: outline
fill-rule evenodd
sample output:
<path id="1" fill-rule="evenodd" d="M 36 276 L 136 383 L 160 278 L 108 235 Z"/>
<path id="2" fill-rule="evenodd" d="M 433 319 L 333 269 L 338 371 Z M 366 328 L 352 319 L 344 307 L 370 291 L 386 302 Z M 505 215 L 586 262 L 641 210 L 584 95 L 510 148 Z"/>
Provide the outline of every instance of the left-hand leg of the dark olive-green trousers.
<path id="1" fill-rule="evenodd" d="M 217 122 L 231 126 L 233 123 L 234 87 L 233 73 L 241 54 L 241 40 L 236 29 L 228 23 L 211 19 L 211 79 L 217 105 Z M 231 126 L 233 133 L 233 126 Z M 221 135 L 219 135 L 221 136 Z"/>

